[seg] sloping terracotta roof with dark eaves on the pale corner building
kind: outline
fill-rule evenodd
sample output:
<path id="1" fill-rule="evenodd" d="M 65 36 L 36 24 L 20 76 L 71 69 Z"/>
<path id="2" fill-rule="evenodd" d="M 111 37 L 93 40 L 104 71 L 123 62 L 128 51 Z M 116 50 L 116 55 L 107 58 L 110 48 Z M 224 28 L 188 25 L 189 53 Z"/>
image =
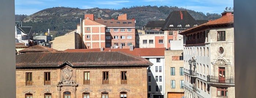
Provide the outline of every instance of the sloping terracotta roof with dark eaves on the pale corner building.
<path id="1" fill-rule="evenodd" d="M 211 28 L 218 27 L 219 28 L 219 27 L 230 27 L 230 26 L 233 26 L 233 25 L 234 25 L 234 14 L 229 15 L 229 16 L 223 16 L 222 18 L 219 18 L 219 19 L 201 24 L 199 26 L 193 27 L 191 29 L 182 31 L 179 34 L 183 35 L 183 34 L 186 34 L 186 33 L 192 32 L 192 31 L 205 29 L 205 28 L 208 28 L 208 27 L 211 27 Z"/>

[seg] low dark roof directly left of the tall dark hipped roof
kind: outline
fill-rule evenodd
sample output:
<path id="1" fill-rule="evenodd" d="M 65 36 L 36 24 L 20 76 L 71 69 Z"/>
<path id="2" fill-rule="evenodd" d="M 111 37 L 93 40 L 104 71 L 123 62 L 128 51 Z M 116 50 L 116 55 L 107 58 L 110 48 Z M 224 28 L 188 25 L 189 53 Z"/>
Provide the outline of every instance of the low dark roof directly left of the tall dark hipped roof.
<path id="1" fill-rule="evenodd" d="M 144 29 L 161 29 L 165 21 L 149 21 L 143 28 Z"/>

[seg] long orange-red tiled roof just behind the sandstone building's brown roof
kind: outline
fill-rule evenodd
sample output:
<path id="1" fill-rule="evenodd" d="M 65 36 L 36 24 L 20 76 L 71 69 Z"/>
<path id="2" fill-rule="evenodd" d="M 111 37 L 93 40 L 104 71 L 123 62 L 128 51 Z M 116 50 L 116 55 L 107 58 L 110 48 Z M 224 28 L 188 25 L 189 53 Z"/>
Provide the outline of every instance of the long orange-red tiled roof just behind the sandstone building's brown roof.
<path id="1" fill-rule="evenodd" d="M 126 49 L 110 49 L 105 48 L 103 51 L 120 51 L 129 53 L 135 56 L 164 56 L 164 50 L 166 48 L 134 48 L 134 50 Z M 100 52 L 100 48 L 98 49 L 67 49 L 64 50 L 66 52 Z"/>

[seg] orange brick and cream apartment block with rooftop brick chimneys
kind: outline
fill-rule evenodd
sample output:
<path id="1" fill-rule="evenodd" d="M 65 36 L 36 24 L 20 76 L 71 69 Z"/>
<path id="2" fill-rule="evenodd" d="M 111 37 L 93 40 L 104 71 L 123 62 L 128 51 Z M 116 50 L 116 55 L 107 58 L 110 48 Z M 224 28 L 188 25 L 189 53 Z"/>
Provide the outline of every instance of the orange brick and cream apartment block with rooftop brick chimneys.
<path id="1" fill-rule="evenodd" d="M 77 28 L 82 30 L 82 40 L 86 49 L 135 46 L 135 18 L 127 20 L 127 14 L 118 16 L 118 20 L 94 20 L 94 15 L 89 14 L 85 15 L 82 24 Z"/>

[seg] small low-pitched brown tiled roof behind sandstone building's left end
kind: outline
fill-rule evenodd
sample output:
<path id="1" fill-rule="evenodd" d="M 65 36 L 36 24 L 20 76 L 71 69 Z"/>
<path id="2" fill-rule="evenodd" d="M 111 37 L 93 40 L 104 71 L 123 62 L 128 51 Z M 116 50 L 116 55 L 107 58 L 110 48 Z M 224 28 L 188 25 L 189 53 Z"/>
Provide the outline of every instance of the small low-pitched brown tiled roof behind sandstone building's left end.
<path id="1" fill-rule="evenodd" d="M 56 49 L 45 47 L 45 46 L 35 45 L 23 50 L 19 50 L 19 52 L 26 53 L 26 52 L 59 52 L 59 51 Z"/>

